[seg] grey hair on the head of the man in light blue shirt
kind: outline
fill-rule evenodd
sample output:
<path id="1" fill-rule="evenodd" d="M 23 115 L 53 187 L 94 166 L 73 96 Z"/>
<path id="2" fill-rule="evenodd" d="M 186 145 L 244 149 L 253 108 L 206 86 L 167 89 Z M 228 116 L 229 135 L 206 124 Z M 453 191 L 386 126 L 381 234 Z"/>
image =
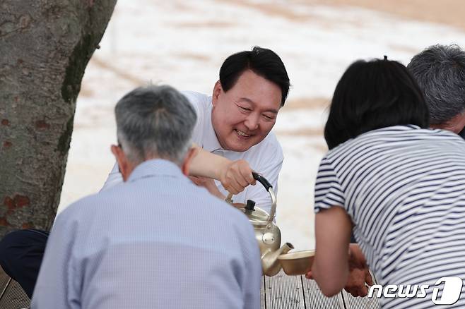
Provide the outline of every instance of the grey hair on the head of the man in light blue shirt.
<path id="1" fill-rule="evenodd" d="M 167 85 L 139 87 L 122 97 L 114 111 L 118 142 L 131 164 L 153 158 L 182 164 L 196 123 L 184 95 Z"/>

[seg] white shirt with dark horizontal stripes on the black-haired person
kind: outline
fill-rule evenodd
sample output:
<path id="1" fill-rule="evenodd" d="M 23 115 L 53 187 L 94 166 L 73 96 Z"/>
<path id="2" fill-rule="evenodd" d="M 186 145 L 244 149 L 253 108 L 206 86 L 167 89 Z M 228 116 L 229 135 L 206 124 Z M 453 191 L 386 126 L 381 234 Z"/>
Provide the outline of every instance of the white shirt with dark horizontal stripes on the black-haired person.
<path id="1" fill-rule="evenodd" d="M 392 126 L 330 150 L 319 166 L 315 212 L 333 206 L 350 215 L 379 284 L 430 286 L 426 298 L 386 298 L 383 308 L 433 308 L 437 279 L 465 279 L 465 141 L 458 135 Z M 465 308 L 465 289 L 454 306 Z"/>

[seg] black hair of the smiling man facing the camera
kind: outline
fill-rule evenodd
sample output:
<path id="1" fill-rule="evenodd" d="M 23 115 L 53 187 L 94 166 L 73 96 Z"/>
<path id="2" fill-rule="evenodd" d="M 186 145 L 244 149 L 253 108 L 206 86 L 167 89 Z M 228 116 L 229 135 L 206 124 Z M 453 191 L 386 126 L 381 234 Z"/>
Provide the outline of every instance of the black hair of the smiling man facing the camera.
<path id="1" fill-rule="evenodd" d="M 289 92 L 289 76 L 281 58 L 271 49 L 254 47 L 252 51 L 238 52 L 229 56 L 220 68 L 220 83 L 227 92 L 247 69 L 275 83 L 281 89 L 281 107 Z"/>

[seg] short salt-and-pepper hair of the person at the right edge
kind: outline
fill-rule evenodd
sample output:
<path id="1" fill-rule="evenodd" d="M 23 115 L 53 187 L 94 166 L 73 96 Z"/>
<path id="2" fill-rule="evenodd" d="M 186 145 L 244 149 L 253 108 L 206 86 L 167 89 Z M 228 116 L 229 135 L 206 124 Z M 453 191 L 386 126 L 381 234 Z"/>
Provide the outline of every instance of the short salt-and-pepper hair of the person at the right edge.
<path id="1" fill-rule="evenodd" d="M 465 52 L 457 45 L 434 45 L 408 63 L 430 109 L 430 123 L 446 123 L 465 109 Z"/>

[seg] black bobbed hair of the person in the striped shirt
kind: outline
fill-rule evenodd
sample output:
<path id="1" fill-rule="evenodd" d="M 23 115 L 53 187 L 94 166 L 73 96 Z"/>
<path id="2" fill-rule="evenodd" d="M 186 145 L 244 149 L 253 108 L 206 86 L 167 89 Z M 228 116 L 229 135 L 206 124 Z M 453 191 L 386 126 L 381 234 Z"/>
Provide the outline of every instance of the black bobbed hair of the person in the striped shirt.
<path id="1" fill-rule="evenodd" d="M 329 149 L 378 128 L 428 128 L 428 107 L 405 66 L 397 61 L 356 61 L 339 80 L 324 138 Z"/>

